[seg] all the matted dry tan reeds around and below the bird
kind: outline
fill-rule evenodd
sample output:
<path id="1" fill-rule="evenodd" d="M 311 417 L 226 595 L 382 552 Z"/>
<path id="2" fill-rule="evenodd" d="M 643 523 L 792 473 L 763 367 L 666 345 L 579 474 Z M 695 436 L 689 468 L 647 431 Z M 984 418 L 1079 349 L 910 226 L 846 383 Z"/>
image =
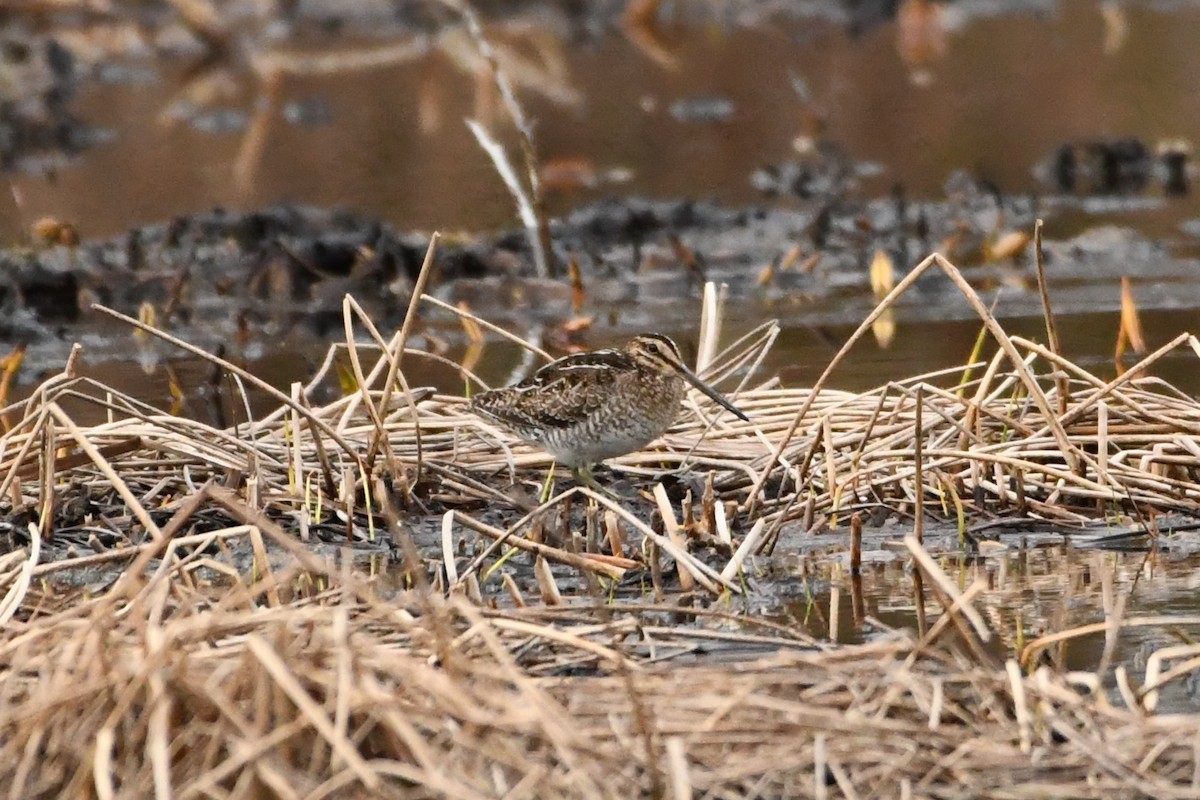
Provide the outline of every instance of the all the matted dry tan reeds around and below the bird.
<path id="1" fill-rule="evenodd" d="M 540 485 L 547 458 L 407 385 L 424 357 L 400 360 L 412 313 L 373 363 L 348 336 L 356 393 L 311 408 L 296 386 L 229 429 L 68 367 L 7 409 L 0 438 L 0 793 L 1200 795 L 1200 715 L 1156 712 L 1200 650 L 1157 654 L 1142 686 L 996 661 L 982 582 L 956 585 L 919 536 L 930 515 L 1086 528 L 1120 513 L 1154 534 L 1157 513 L 1200 500 L 1200 403 L 1145 377 L 1166 348 L 1105 383 L 1009 337 L 953 266 L 929 265 L 964 288 L 996 357 L 863 395 L 826 377 L 751 384 L 774 329 L 718 354 L 710 295 L 700 366 L 743 378 L 722 387 L 752 421 L 689 414 L 618 459 L 644 497 L 506 491 Z M 355 319 L 348 301 L 348 335 Z M 1200 353 L 1194 337 L 1170 347 Z M 108 420 L 78 425 L 80 402 Z M 684 464 L 702 476 L 694 500 L 658 477 Z M 582 534 L 551 543 L 568 505 L 556 524 Z M 905 547 L 944 609 L 919 638 L 834 646 L 739 612 L 756 552 L 859 509 L 914 521 Z M 410 535 L 428 515 L 440 558 Z M 330 531 L 391 542 L 398 583 L 322 554 Z M 492 572 L 529 554 L 539 599 Z M 562 590 L 572 576 L 578 596 Z M 484 600 L 497 582 L 504 609 Z M 742 655 L 702 657 L 720 645 Z"/>

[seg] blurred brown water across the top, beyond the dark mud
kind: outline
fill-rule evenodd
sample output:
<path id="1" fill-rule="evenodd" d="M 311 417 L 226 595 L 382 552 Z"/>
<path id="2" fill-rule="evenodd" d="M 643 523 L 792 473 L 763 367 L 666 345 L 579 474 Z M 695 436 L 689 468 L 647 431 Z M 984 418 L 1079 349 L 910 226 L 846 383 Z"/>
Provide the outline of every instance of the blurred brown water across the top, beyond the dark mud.
<path id="1" fill-rule="evenodd" d="M 740 25 L 691 10 L 608 28 L 535 13 L 496 18 L 486 31 L 536 120 L 542 160 L 618 170 L 630 192 L 656 197 L 757 201 L 754 170 L 793 157 L 798 142 L 832 142 L 878 164 L 868 193 L 900 184 L 914 198 L 941 197 L 954 169 L 1043 193 L 1052 187 L 1032 169 L 1063 143 L 1116 133 L 1153 149 L 1195 136 L 1200 55 L 1189 31 L 1200 10 L 1048 6 L 1052 16 L 989 16 L 983 5 L 923 0 L 900 4 L 894 19 Z M 20 219 L 49 215 L 107 235 L 280 200 L 404 229 L 511 224 L 511 201 L 462 125 L 504 127 L 496 88 L 466 28 L 443 17 L 391 36 L 380 20 L 360 40 L 301 36 L 296 23 L 281 38 L 259 20 L 209 36 L 224 43 L 215 52 L 154 64 L 150 83 L 90 83 L 74 110 L 112 140 L 54 181 L 16 176 L 20 206 L 2 230 L 13 239 Z M 84 34 L 65 41 L 103 64 L 121 60 L 95 55 Z M 679 113 L 697 98 L 728 113 Z M 316 118 L 287 112 L 316 101 Z M 611 191 L 604 181 L 560 188 L 558 211 Z M 1174 231 L 1194 213 L 1194 203 L 1166 204 L 1135 223 Z"/>

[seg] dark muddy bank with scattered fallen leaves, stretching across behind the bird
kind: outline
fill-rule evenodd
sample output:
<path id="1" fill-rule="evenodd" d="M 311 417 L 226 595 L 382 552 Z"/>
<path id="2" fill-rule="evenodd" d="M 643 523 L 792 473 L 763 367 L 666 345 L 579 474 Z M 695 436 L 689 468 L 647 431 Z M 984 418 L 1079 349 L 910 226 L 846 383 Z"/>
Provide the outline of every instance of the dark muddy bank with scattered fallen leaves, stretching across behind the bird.
<path id="1" fill-rule="evenodd" d="M 502 325 L 554 331 L 586 318 L 601 336 L 616 337 L 691 318 L 704 281 L 714 281 L 728 287 L 746 319 L 845 326 L 874 305 L 868 267 L 877 254 L 902 276 L 938 249 L 996 301 L 1000 318 L 1039 315 L 1028 231 L 1061 204 L 997 199 L 966 185 L 970 191 L 940 201 L 893 196 L 731 209 L 610 200 L 552 224 L 554 260 L 560 271 L 577 270 L 574 285 L 565 276 L 538 276 L 528 237 L 510 231 L 445 236 L 431 291 Z M 997 252 L 1006 241 L 1009 249 Z M 130 331 L 90 309 L 102 303 L 134 317 L 152 312 L 158 324 L 208 349 L 262 356 L 316 347 L 342 337 L 346 294 L 380 327 L 396 326 L 427 246 L 426 233 L 276 206 L 186 215 L 79 245 L 8 247 L 0 251 L 2 336 L 29 344 L 34 369 L 61 363 L 73 342 L 83 342 L 94 362 L 126 359 Z M 1196 260 L 1132 229 L 1050 240 L 1045 257 L 1056 309 L 1066 315 L 1118 308 L 1122 276 L 1135 281 L 1144 311 L 1200 305 Z M 913 323 L 971 318 L 935 273 L 898 309 Z M 440 336 L 461 338 L 450 315 L 431 309 L 425 319 Z"/>

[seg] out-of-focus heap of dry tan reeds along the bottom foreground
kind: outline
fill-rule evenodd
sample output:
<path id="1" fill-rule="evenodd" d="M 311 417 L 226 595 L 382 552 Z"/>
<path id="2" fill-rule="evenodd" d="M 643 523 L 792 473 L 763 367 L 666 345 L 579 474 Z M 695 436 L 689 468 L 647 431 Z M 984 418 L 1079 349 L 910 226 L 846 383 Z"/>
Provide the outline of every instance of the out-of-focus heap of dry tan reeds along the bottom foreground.
<path id="1" fill-rule="evenodd" d="M 329 577 L 323 600 L 269 614 L 180 597 L 149 628 L 133 618 L 79 625 L 102 606 L 22 622 L 24 644 L 4 655 L 13 679 L 0 686 L 0 758 L 28 764 L 17 790 L 242 798 L 257 776 L 283 795 L 420 787 L 479 798 L 535 780 L 539 796 L 646 796 L 661 763 L 668 786 L 712 796 L 818 796 L 826 770 L 846 796 L 895 796 L 902 784 L 931 796 L 1190 792 L 1200 722 L 1114 708 L 1044 669 L 913 660 L 902 637 L 736 669 L 664 667 L 606 645 L 613 622 L 481 616 L 461 602 L 430 607 L 457 632 L 438 644 L 403 606 L 358 600 L 349 572 Z M 152 658 L 128 657 L 151 639 Z M 85 666 L 100 652 L 98 669 Z M 533 676 L 577 656 L 598 672 Z M 40 679 L 32 663 L 82 672 Z M 632 693 L 624 669 L 637 675 Z M 166 708 L 188 712 L 154 711 Z M 138 724 L 146 712 L 157 722 Z M 652 735 L 630 738 L 638 729 Z M 20 758 L 30 740 L 36 760 Z"/>

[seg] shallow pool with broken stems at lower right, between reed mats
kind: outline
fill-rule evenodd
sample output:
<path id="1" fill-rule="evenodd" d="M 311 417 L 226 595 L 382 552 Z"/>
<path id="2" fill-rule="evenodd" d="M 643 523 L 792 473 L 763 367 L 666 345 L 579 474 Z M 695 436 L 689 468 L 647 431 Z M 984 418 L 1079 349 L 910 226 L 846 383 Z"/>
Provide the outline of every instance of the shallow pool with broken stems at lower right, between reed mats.
<path id="1" fill-rule="evenodd" d="M 833 551 L 841 547 L 830 545 Z M 864 553 L 869 563 L 858 589 L 841 558 L 788 557 L 764 567 L 762 584 L 774 600 L 767 601 L 764 610 L 815 637 L 842 643 L 864 642 L 889 627 L 919 631 L 942 614 L 928 585 L 918 600 L 914 573 L 905 558 L 888 552 L 871 557 Z M 960 590 L 979 578 L 986 581 L 974 607 L 995 633 L 990 649 L 1000 658 L 1019 658 L 1038 637 L 1104 622 L 1109 615 L 1123 620 L 1187 616 L 1194 622 L 1200 614 L 1196 554 L 1013 546 L 988 558 L 952 554 L 938 563 Z M 1124 667 L 1136 687 L 1156 651 L 1193 643 L 1196 632 L 1194 624 L 1123 627 L 1105 654 L 1105 632 L 1096 631 L 1045 648 L 1039 662 L 1057 669 L 1096 670 L 1102 663 Z M 1168 711 L 1200 709 L 1196 675 L 1171 684 L 1160 703 L 1160 710 Z"/>

